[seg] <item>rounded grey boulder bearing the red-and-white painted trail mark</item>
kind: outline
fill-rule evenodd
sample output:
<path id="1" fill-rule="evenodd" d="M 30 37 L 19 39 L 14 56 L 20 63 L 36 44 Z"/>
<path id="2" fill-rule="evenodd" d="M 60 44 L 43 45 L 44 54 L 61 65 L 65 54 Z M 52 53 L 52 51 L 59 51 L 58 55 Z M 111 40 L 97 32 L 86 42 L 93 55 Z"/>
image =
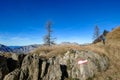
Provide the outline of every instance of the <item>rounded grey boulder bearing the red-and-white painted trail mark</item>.
<path id="1" fill-rule="evenodd" d="M 78 64 L 78 60 L 87 59 L 88 63 Z M 95 73 L 105 71 L 108 66 L 108 58 L 89 51 L 68 51 L 64 56 L 54 58 L 53 65 L 48 69 L 44 80 L 87 80 L 94 77 Z M 51 64 L 52 64 L 51 63 Z"/>

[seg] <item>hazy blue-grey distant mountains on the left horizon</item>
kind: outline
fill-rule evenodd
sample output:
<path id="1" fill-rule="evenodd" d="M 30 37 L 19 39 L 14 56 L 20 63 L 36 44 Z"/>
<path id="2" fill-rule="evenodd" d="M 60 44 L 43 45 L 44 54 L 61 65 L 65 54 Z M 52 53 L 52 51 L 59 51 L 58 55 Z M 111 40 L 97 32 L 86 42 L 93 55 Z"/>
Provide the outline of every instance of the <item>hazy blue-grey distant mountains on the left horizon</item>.
<path id="1" fill-rule="evenodd" d="M 38 48 L 39 44 L 28 46 L 5 46 L 0 44 L 0 52 L 13 52 L 13 53 L 29 53 L 30 51 Z"/>

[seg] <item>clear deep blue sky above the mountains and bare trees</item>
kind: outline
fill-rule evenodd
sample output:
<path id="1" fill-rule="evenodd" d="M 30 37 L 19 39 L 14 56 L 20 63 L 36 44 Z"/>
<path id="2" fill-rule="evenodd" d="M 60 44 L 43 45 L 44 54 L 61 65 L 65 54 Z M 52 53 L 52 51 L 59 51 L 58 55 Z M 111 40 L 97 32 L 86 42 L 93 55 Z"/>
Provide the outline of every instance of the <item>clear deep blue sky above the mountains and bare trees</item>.
<path id="1" fill-rule="evenodd" d="M 120 25 L 119 0 L 0 0 L 0 44 L 42 44 L 47 21 L 56 42 L 90 43 Z"/>

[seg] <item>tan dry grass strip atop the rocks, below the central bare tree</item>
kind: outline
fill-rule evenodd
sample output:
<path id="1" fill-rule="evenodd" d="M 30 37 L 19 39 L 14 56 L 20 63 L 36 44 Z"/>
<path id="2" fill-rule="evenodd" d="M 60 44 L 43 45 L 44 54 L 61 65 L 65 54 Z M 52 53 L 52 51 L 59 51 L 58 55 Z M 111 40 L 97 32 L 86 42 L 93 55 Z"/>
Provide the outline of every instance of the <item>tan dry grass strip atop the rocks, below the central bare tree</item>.
<path id="1" fill-rule="evenodd" d="M 31 54 L 36 53 L 38 55 L 44 55 L 49 57 L 53 57 L 56 55 L 62 55 L 66 53 L 67 51 L 72 50 L 84 50 L 83 47 L 79 45 L 54 45 L 54 46 L 41 46 L 38 49 L 31 52 Z"/>

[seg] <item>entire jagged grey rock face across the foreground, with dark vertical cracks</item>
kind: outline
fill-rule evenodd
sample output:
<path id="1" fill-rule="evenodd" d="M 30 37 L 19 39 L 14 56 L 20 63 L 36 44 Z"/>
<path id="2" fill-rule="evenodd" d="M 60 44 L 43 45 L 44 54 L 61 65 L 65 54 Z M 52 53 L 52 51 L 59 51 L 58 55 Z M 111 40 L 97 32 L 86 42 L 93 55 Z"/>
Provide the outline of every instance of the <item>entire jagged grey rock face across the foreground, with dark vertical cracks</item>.
<path id="1" fill-rule="evenodd" d="M 88 60 L 78 64 L 78 60 Z M 37 54 L 29 54 L 21 67 L 5 76 L 4 80 L 87 80 L 97 72 L 107 70 L 108 58 L 90 51 L 67 51 L 64 55 L 49 59 Z"/>

